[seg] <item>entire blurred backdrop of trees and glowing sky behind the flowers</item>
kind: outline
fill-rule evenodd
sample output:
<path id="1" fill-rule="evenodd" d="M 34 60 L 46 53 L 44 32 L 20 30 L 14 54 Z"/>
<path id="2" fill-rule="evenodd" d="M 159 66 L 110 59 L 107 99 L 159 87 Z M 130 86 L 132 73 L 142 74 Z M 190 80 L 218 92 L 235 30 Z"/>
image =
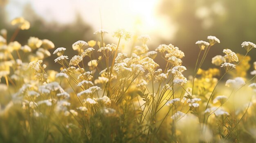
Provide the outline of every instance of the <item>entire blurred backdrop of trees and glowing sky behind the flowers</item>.
<path id="1" fill-rule="evenodd" d="M 255 0 L 0 0 L 0 29 L 7 29 L 10 38 L 15 31 L 11 20 L 22 16 L 31 22 L 31 28 L 16 37 L 22 45 L 30 36 L 49 39 L 55 47 L 70 48 L 72 56 L 77 40 L 98 41 L 93 33 L 103 28 L 109 32 L 105 42 L 117 44 L 112 33 L 123 28 L 134 36 L 150 35 L 150 50 L 160 44 L 179 47 L 187 68 L 195 66 L 199 52 L 195 42 L 213 35 L 220 44 L 210 50 L 203 66 L 208 68 L 214 67 L 211 58 L 223 55 L 223 48 L 245 54 L 241 43 L 256 43 L 255 6 Z M 255 53 L 254 49 L 249 53 L 250 64 L 256 61 Z"/>

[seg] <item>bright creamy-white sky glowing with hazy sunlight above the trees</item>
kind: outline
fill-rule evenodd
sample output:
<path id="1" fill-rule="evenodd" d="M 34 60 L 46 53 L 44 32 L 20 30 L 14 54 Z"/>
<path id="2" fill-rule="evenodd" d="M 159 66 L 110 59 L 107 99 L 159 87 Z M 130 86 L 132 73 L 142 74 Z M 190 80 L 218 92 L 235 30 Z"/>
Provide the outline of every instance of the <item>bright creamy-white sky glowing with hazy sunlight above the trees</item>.
<path id="1" fill-rule="evenodd" d="M 171 40 L 175 26 L 157 14 L 160 0 L 9 0 L 9 20 L 22 16 L 22 8 L 30 2 L 35 12 L 47 22 L 72 23 L 76 13 L 96 31 L 113 32 L 119 28 L 135 34 L 148 34 L 152 39 Z M 101 12 L 100 12 L 101 11 Z"/>

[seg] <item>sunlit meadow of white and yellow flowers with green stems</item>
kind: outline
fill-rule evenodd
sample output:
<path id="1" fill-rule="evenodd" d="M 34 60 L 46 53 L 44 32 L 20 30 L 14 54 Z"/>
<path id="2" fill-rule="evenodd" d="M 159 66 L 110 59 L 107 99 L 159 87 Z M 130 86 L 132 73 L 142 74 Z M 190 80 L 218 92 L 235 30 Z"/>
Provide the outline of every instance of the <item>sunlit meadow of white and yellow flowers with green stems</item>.
<path id="1" fill-rule="evenodd" d="M 150 51 L 148 35 L 123 53 L 121 43 L 132 38 L 123 29 L 99 29 L 92 33 L 99 41 L 57 48 L 38 37 L 21 45 L 15 37 L 30 24 L 16 18 L 11 25 L 17 29 L 10 39 L 0 31 L 1 143 L 256 142 L 256 62 L 248 71 L 247 55 L 256 52 L 252 42 L 241 44 L 243 55 L 223 49 L 212 63 L 204 61 L 220 40 L 195 42 L 200 53 L 185 77 L 182 48 L 160 44 Z M 105 43 L 106 36 L 116 43 Z M 66 56 L 71 50 L 77 54 Z M 49 56 L 58 71 L 47 70 Z M 204 64 L 212 68 L 203 70 Z"/>

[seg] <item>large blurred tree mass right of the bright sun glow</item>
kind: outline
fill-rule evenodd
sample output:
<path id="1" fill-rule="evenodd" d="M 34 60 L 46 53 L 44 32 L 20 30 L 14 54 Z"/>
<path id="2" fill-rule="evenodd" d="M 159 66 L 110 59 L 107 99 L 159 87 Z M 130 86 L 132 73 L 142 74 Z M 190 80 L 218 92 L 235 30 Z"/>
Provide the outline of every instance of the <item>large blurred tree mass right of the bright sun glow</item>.
<path id="1" fill-rule="evenodd" d="M 177 25 L 173 44 L 185 53 L 184 64 L 195 66 L 199 48 L 198 40 L 207 41 L 208 35 L 220 39 L 220 44 L 212 47 L 204 68 L 212 66 L 211 58 L 223 55 L 223 48 L 245 54 L 241 43 L 256 43 L 256 1 L 255 0 L 163 0 L 159 12 L 168 15 Z M 254 50 L 249 53 L 256 61 Z"/>

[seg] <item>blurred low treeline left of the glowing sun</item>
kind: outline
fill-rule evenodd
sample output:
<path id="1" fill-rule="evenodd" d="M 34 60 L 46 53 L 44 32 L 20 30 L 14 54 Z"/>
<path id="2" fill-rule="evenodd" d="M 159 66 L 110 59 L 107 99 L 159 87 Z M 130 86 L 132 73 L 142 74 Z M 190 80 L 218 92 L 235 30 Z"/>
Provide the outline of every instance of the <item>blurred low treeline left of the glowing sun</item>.
<path id="1" fill-rule="evenodd" d="M 0 6 L 1 7 L 1 6 Z M 6 20 L 6 12 L 4 11 L 4 5 L 0 9 L 0 29 L 7 28 L 8 39 L 10 39 L 15 28 L 10 26 L 10 22 Z M 76 53 L 72 50 L 72 44 L 78 40 L 89 41 L 94 39 L 92 28 L 86 24 L 81 18 L 80 14 L 76 15 L 76 21 L 72 24 L 60 24 L 57 21 L 47 23 L 43 18 L 35 13 L 30 4 L 24 7 L 23 17 L 31 23 L 29 30 L 20 31 L 15 40 L 19 41 L 22 45 L 27 43 L 29 37 L 34 36 L 39 39 L 51 40 L 55 47 L 65 47 L 68 50 L 66 53 L 70 58 Z M 53 53 L 54 49 L 50 52 Z M 45 62 L 54 62 L 55 56 L 48 57 Z M 58 70 L 57 64 L 48 64 L 49 69 Z"/>

